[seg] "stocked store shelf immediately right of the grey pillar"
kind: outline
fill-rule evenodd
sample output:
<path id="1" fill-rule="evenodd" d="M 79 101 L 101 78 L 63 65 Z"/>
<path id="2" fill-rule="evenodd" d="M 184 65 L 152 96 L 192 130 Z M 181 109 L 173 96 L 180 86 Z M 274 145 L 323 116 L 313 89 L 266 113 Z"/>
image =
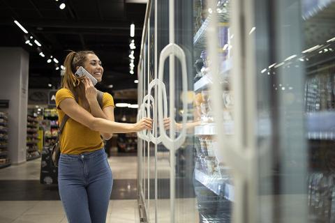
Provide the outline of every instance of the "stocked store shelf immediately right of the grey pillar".
<path id="1" fill-rule="evenodd" d="M 38 118 L 27 116 L 27 161 L 35 160 L 40 157 L 38 151 Z"/>

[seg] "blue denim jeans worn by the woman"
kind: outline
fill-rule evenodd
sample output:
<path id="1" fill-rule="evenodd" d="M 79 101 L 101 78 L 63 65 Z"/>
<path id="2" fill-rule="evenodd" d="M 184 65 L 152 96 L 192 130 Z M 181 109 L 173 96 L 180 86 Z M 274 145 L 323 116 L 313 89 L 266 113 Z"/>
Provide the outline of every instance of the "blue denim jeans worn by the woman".
<path id="1" fill-rule="evenodd" d="M 61 154 L 58 183 L 69 223 L 105 223 L 113 178 L 103 148 Z"/>

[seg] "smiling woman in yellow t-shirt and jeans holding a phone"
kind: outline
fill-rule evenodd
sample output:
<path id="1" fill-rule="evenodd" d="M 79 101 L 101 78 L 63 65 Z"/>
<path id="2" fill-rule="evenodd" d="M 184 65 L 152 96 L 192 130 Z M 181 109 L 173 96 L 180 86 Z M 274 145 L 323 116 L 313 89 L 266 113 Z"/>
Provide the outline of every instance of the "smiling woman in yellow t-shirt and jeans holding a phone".
<path id="1" fill-rule="evenodd" d="M 70 118 L 60 139 L 59 194 L 69 223 L 102 223 L 112 192 L 112 171 L 101 136 L 110 139 L 117 132 L 151 130 L 152 121 L 143 118 L 134 124 L 114 122 L 114 101 L 109 93 L 103 93 L 100 107 L 91 80 L 74 75 L 82 66 L 101 82 L 103 67 L 94 52 L 70 52 L 64 66 L 56 105 L 59 123 L 65 114 Z"/>

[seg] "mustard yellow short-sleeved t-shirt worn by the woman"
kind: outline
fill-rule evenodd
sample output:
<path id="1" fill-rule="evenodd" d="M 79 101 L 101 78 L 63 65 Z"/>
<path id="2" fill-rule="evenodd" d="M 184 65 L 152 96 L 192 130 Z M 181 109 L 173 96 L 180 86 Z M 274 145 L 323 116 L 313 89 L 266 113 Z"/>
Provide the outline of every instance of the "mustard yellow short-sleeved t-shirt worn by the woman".
<path id="1" fill-rule="evenodd" d="M 56 93 L 59 125 L 61 125 L 61 121 L 65 115 L 65 113 L 59 108 L 59 103 L 66 98 L 75 99 L 75 96 L 68 89 L 59 89 Z M 80 100 L 79 105 L 82 105 Z M 114 107 L 114 100 L 110 93 L 103 93 L 102 109 L 108 106 Z M 61 143 L 61 153 L 65 154 L 80 154 L 103 148 L 103 140 L 101 139 L 100 132 L 91 130 L 85 125 L 74 121 L 72 118 L 68 118 L 68 121 L 66 121 L 59 141 Z"/>

